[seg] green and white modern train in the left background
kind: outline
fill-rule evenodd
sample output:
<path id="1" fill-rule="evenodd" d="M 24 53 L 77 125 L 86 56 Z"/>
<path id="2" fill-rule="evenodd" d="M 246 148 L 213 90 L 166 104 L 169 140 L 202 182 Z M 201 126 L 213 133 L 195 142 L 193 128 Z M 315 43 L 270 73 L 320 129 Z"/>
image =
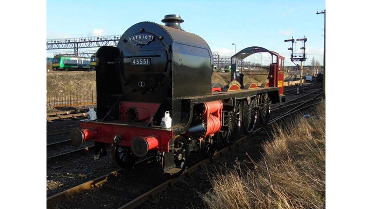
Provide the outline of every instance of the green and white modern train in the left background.
<path id="1" fill-rule="evenodd" d="M 52 68 L 56 71 L 90 71 L 90 58 L 55 55 Z"/>

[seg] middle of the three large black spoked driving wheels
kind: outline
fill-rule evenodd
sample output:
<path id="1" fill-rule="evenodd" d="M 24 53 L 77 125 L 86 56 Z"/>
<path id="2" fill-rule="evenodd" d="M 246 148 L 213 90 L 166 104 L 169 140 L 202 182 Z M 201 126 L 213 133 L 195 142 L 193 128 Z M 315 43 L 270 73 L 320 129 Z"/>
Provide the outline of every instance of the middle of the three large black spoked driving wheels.
<path id="1" fill-rule="evenodd" d="M 243 131 L 247 135 L 253 132 L 257 120 L 256 103 L 256 97 L 251 100 L 250 104 L 247 100 L 243 102 Z"/>

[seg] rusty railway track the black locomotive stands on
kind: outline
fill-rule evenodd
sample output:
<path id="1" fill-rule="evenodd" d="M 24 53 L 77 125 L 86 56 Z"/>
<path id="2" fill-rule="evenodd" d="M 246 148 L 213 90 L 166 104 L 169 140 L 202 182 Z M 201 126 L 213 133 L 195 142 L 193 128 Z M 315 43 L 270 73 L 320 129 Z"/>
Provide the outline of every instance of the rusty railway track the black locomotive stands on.
<path id="1" fill-rule="evenodd" d="M 305 95 L 302 96 L 302 99 L 303 99 L 302 101 L 296 102 L 291 106 L 286 105 L 285 106 L 286 109 L 284 109 L 282 107 L 282 112 L 277 114 L 278 116 L 271 119 L 269 121 L 269 124 L 271 124 L 273 122 L 276 122 L 280 119 L 283 119 L 286 116 L 291 115 L 295 112 L 298 112 L 298 111 L 307 109 L 311 106 L 317 105 L 319 103 L 319 98 L 320 98 L 319 96 L 321 94 L 322 94 L 321 89 L 316 89 L 316 90 L 310 92 L 309 94 L 307 94 L 306 96 Z M 298 100 L 300 100 L 300 99 L 297 99 L 296 101 L 298 101 Z M 295 100 L 291 100 L 291 101 L 288 101 L 287 103 L 294 102 L 294 101 Z M 275 111 L 279 110 L 279 108 L 278 109 L 273 109 L 273 111 L 274 110 Z M 253 131 L 253 133 L 258 132 L 261 129 L 262 129 L 262 127 L 257 128 Z M 233 150 L 235 147 L 239 146 L 241 143 L 246 142 L 247 140 L 248 140 L 248 136 L 244 136 L 244 137 L 238 139 L 238 141 L 235 142 L 235 144 L 231 145 L 230 147 L 225 147 L 225 148 L 219 150 L 217 152 L 217 154 L 215 154 L 213 157 L 202 160 L 199 163 L 196 163 L 196 164 L 192 165 L 191 167 L 187 168 L 185 170 L 185 172 L 180 177 L 177 177 L 177 178 L 174 178 L 174 179 L 164 180 L 164 181 L 160 182 L 159 184 L 157 184 L 156 186 L 152 187 L 151 189 L 148 189 L 147 192 L 143 192 L 141 195 L 137 195 L 137 197 L 133 197 L 133 196 L 135 196 L 134 194 L 126 194 L 127 196 L 131 196 L 133 198 L 129 201 L 124 201 L 124 203 L 122 203 L 121 206 L 116 206 L 116 208 L 120 208 L 120 209 L 122 209 L 122 208 L 135 208 L 135 207 L 140 206 L 141 204 L 143 204 L 144 202 L 147 202 L 147 201 L 156 202 L 157 201 L 157 198 L 156 198 L 157 194 L 159 194 L 160 192 L 163 192 L 166 189 L 175 189 L 175 184 L 177 182 L 182 181 L 183 178 L 185 178 L 187 176 L 190 176 L 192 173 L 198 171 L 199 169 L 203 169 L 207 164 L 212 163 L 218 157 L 224 156 L 227 152 Z M 151 159 L 148 159 L 148 160 L 151 160 Z M 141 161 L 140 163 L 144 163 L 145 161 L 146 160 Z M 136 163 L 136 164 L 140 164 L 140 163 Z M 76 196 L 77 194 L 79 194 L 83 191 L 89 190 L 91 188 L 92 189 L 96 188 L 96 189 L 93 189 L 92 191 L 94 191 L 94 192 L 91 192 L 91 193 L 94 193 L 94 195 L 96 195 L 97 198 L 99 198 L 99 197 L 101 197 L 101 192 L 100 191 L 103 190 L 102 188 L 103 188 L 104 184 L 106 184 L 106 183 L 109 184 L 109 182 L 114 182 L 111 185 L 113 185 L 113 184 L 121 185 L 119 183 L 115 183 L 115 181 L 117 181 L 118 180 L 117 177 L 122 176 L 123 173 L 124 173 L 123 169 L 112 171 L 112 172 L 110 172 L 108 174 L 105 174 L 103 176 L 100 176 L 96 179 L 87 181 L 87 182 L 85 182 L 83 184 L 80 184 L 78 186 L 75 186 L 71 189 L 67 189 L 67 190 L 65 190 L 61 193 L 54 194 L 53 196 L 49 196 L 49 197 L 47 197 L 47 207 L 51 206 L 53 203 L 56 203 L 57 201 L 64 200 L 64 199 L 70 199 L 72 196 Z M 126 190 L 126 192 L 130 192 L 130 191 Z M 111 201 L 111 200 L 106 200 L 106 201 Z M 89 206 L 94 207 L 96 205 L 89 205 Z"/>

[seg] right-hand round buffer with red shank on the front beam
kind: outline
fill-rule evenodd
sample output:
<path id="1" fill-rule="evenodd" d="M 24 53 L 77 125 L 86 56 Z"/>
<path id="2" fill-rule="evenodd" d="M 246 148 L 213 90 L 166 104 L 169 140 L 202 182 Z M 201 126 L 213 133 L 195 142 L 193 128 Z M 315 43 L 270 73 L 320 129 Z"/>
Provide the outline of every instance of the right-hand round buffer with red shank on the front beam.
<path id="1" fill-rule="evenodd" d="M 132 152 L 137 157 L 144 157 L 147 151 L 159 145 L 158 140 L 154 136 L 136 136 L 131 143 Z"/>

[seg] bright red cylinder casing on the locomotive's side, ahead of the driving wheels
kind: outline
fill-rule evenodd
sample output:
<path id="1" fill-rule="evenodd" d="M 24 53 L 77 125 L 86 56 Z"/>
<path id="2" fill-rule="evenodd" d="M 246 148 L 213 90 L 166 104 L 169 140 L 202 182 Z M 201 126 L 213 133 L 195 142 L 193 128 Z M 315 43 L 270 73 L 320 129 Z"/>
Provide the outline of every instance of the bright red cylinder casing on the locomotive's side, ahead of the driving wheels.
<path id="1" fill-rule="evenodd" d="M 222 101 L 205 102 L 205 111 L 202 119 L 207 122 L 207 131 L 204 136 L 216 133 L 222 126 Z"/>

